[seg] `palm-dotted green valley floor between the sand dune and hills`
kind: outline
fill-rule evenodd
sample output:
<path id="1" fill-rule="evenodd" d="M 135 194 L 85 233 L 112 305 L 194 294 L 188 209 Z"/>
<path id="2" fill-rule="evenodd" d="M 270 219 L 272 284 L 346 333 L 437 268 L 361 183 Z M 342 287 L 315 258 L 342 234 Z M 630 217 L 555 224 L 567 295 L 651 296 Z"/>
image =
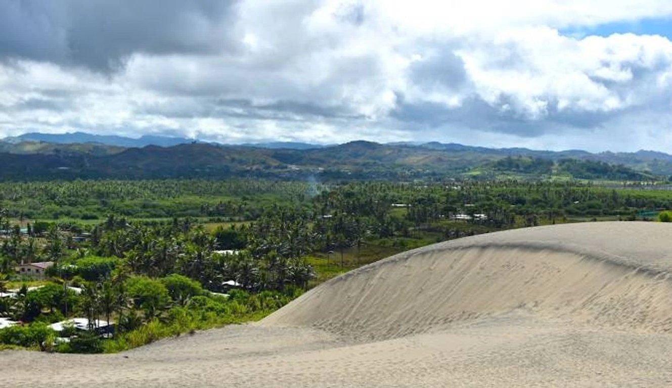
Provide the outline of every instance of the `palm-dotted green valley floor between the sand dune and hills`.
<path id="1" fill-rule="evenodd" d="M 519 172 L 546 168 L 515 158 L 501 164 Z M 672 220 L 664 211 L 672 209 L 671 191 L 610 185 L 1 183 L 0 292 L 15 291 L 0 298 L 0 317 L 23 325 L 0 330 L 0 346 L 126 350 L 261 319 L 323 281 L 433 242 L 564 222 Z M 170 217 L 147 218 L 159 211 Z M 72 218 L 84 213 L 89 220 Z M 45 221 L 46 214 L 55 219 Z M 45 279 L 14 270 L 40 261 L 54 262 Z M 89 327 L 48 328 L 71 318 L 85 318 Z M 114 322 L 114 330 L 100 321 Z"/>

